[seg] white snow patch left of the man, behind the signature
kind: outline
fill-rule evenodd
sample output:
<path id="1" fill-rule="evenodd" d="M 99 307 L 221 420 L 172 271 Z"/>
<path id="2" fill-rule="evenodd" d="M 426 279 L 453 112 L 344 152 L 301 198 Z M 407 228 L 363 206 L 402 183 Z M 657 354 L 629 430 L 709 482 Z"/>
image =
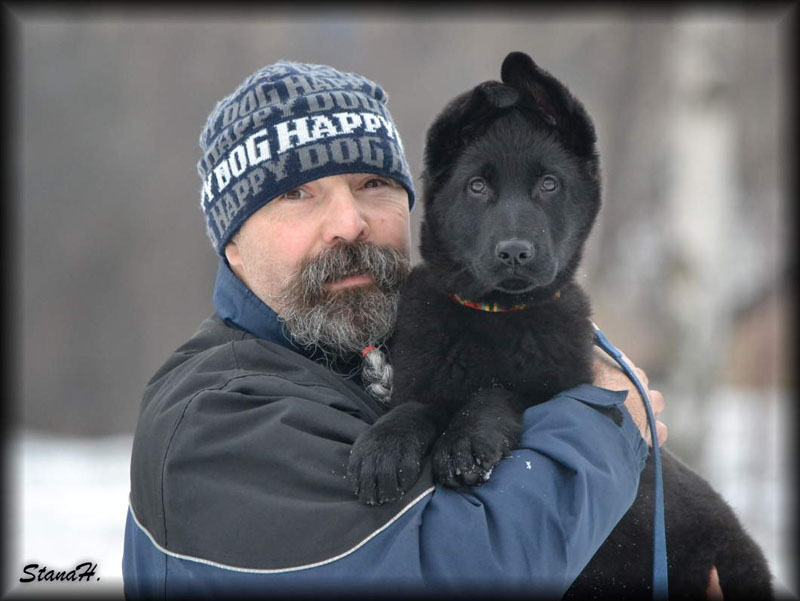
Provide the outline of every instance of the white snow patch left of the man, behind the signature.
<path id="1" fill-rule="evenodd" d="M 61 587 L 81 595 L 112 592 L 122 598 L 132 440 L 131 436 L 86 440 L 26 432 L 11 441 L 10 490 L 16 498 L 9 499 L 13 519 L 8 532 L 16 535 L 12 547 L 16 553 L 10 554 L 11 565 L 5 566 L 4 583 L 13 586 L 15 596 L 43 592 L 41 583 L 19 582 L 29 564 L 71 570 L 90 561 L 97 564 L 99 582 Z"/>

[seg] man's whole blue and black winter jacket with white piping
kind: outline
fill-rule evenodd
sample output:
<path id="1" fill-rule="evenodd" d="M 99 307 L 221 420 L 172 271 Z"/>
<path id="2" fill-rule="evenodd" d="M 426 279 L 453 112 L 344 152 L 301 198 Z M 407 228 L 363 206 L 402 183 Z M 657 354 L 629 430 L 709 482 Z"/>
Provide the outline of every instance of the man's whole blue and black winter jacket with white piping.
<path id="1" fill-rule="evenodd" d="M 525 412 L 519 448 L 482 486 L 434 485 L 425 465 L 399 501 L 363 505 L 348 453 L 385 408 L 296 347 L 224 260 L 214 301 L 142 401 L 129 599 L 560 597 L 633 502 L 647 445 L 626 393 L 582 385 Z"/>

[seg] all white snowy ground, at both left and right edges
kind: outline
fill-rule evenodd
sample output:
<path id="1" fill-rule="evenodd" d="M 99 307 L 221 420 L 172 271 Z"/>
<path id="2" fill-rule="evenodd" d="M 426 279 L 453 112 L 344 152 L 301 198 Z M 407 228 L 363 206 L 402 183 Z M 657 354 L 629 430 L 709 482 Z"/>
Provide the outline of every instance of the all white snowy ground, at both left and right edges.
<path id="1" fill-rule="evenodd" d="M 797 591 L 793 456 L 794 424 L 786 395 L 721 391 L 712 401 L 700 471 L 728 500 L 759 542 L 786 596 Z M 127 511 L 130 436 L 96 440 L 21 433 L 10 441 L 11 528 L 16 535 L 4 566 L 11 598 L 61 592 L 122 598 L 122 538 Z M 749 444 L 748 444 L 749 441 Z M 24 566 L 71 569 L 97 564 L 99 582 L 21 584 Z M 3 591 L 5 592 L 5 591 Z"/>

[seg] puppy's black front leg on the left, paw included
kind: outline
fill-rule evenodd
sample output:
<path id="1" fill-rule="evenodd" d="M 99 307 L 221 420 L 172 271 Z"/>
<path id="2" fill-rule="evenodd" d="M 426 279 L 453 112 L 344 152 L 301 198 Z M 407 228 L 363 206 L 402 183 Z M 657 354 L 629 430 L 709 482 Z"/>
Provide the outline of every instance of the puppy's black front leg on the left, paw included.
<path id="1" fill-rule="evenodd" d="M 359 500 L 379 505 L 402 497 L 419 478 L 422 459 L 443 422 L 444 415 L 434 406 L 409 401 L 362 432 L 347 466 Z"/>

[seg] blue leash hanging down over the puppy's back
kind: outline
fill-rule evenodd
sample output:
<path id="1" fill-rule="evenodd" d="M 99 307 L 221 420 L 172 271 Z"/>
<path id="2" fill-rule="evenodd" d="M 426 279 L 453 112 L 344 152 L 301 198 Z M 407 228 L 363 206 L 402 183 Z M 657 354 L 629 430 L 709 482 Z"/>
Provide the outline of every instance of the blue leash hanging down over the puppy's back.
<path id="1" fill-rule="evenodd" d="M 653 439 L 653 468 L 655 469 L 655 492 L 653 508 L 653 599 L 666 601 L 669 596 L 667 582 L 667 536 L 664 530 L 664 481 L 661 475 L 661 452 L 658 448 L 658 434 L 656 432 L 656 418 L 650 408 L 650 399 L 647 391 L 642 386 L 634 371 L 622 359 L 622 353 L 606 338 L 606 335 L 594 326 L 594 343 L 611 355 L 636 385 L 636 390 L 642 396 L 644 408 L 647 411 L 647 423 L 650 426 L 650 437 Z"/>

